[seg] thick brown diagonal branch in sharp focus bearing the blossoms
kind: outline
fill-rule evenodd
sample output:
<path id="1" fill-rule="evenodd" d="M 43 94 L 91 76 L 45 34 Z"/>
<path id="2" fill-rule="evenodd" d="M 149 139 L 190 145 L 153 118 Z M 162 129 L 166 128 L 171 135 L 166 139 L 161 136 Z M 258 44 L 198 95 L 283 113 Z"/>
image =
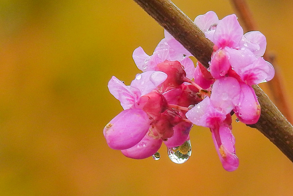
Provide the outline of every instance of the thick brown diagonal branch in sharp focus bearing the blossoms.
<path id="1" fill-rule="evenodd" d="M 208 66 L 213 43 L 169 0 L 134 0 L 175 37 L 197 60 Z M 254 125 L 293 162 L 293 127 L 268 96 L 254 85 L 261 105 L 261 117 Z"/>

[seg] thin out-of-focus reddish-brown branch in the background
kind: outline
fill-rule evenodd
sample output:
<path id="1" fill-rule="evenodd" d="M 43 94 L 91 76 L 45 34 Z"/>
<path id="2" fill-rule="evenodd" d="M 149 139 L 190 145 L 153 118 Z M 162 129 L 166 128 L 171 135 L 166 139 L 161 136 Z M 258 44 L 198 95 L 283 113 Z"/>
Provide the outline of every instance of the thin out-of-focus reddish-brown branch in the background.
<path id="1" fill-rule="evenodd" d="M 251 14 L 251 11 L 247 5 L 246 0 L 231 0 L 232 4 L 234 5 L 238 18 L 243 22 L 247 31 L 255 31 L 257 30 L 257 24 L 254 21 L 254 18 Z M 274 62 L 274 57 L 268 55 L 269 52 L 263 55 L 263 58 L 269 61 L 270 63 L 274 63 L 275 67 L 275 76 L 274 78 L 269 81 L 267 84 L 270 87 L 270 91 L 272 92 L 273 100 L 280 111 L 284 114 L 284 116 L 292 122 L 292 114 L 290 111 L 288 99 L 285 94 L 286 91 L 280 91 L 283 88 L 283 81 L 282 76 L 280 74 L 279 66 Z"/>

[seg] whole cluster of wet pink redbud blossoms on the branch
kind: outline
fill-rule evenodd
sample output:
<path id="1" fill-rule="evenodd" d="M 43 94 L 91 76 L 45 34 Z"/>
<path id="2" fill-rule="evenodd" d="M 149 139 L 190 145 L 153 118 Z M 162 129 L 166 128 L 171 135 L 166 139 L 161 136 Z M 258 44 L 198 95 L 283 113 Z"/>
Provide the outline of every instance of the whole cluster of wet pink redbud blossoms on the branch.
<path id="1" fill-rule="evenodd" d="M 209 11 L 194 23 L 215 44 L 209 68 L 200 62 L 194 67 L 192 55 L 165 30 L 151 56 L 141 47 L 134 50 L 142 73 L 130 86 L 114 76 L 109 81 L 109 91 L 124 111 L 103 133 L 109 147 L 127 157 L 157 159 L 164 142 L 170 159 L 182 163 L 191 154 L 192 125 L 208 127 L 223 168 L 234 171 L 239 161 L 231 115 L 256 123 L 260 105 L 251 86 L 274 76 L 273 66 L 262 58 L 266 38 L 258 31 L 243 35 L 235 15 L 219 20 Z"/>

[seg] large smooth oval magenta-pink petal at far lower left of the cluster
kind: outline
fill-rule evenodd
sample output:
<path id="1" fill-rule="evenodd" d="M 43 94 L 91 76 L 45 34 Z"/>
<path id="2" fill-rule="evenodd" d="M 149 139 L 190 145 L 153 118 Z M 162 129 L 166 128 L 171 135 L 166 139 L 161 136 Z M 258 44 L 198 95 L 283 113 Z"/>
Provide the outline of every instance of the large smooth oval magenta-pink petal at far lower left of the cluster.
<path id="1" fill-rule="evenodd" d="M 133 147 L 150 127 L 148 115 L 141 109 L 120 112 L 104 128 L 103 134 L 110 148 L 123 150 Z"/>

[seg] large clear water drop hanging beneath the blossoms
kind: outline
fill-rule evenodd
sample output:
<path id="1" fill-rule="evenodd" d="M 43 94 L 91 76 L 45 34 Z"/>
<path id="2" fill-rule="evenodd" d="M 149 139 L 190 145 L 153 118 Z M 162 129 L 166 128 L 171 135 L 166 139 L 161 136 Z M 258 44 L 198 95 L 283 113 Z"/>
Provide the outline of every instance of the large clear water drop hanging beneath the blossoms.
<path id="1" fill-rule="evenodd" d="M 171 161 L 177 164 L 185 163 L 191 156 L 191 142 L 185 141 L 181 146 L 167 148 Z"/>

